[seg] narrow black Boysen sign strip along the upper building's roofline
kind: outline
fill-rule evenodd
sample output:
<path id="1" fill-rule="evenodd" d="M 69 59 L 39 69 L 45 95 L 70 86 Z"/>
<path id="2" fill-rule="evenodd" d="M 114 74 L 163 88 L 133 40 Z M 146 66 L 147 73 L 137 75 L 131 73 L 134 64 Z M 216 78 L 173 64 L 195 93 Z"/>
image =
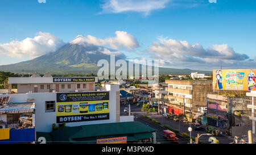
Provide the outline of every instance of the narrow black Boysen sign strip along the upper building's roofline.
<path id="1" fill-rule="evenodd" d="M 53 82 L 95 82 L 95 77 L 58 77 L 53 78 Z"/>

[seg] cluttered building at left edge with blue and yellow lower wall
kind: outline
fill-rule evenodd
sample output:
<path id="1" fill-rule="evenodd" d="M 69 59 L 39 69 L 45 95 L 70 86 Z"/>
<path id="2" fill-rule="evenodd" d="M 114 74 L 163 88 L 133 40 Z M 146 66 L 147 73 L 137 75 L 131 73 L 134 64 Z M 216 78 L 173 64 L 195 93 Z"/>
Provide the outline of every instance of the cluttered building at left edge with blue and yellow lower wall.
<path id="1" fill-rule="evenodd" d="M 35 103 L 10 103 L 0 97 L 0 144 L 35 141 Z"/>

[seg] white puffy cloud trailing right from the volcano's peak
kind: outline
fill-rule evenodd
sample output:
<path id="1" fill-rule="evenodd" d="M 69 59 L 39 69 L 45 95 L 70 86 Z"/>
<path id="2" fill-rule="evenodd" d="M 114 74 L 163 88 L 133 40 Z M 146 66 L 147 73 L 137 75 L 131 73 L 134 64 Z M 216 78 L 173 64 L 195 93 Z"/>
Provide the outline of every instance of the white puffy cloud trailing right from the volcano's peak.
<path id="1" fill-rule="evenodd" d="M 115 31 L 115 37 L 108 37 L 106 39 L 100 39 L 91 35 L 82 36 L 79 35 L 75 40 L 72 40 L 71 44 L 80 44 L 80 45 L 99 45 L 99 46 L 108 46 L 113 49 L 128 49 L 133 51 L 134 48 L 139 47 L 137 39 L 124 31 Z"/>

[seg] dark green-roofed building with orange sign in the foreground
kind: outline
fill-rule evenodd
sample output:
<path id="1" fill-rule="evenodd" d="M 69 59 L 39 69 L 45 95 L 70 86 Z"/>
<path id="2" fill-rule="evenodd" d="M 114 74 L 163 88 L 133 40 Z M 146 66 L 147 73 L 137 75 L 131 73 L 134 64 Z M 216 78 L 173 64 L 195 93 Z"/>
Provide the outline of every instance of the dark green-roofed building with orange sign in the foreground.
<path id="1" fill-rule="evenodd" d="M 139 122 L 121 122 L 61 128 L 49 133 L 38 132 L 37 137 L 47 137 L 46 143 L 152 143 L 152 133 L 156 131 Z"/>

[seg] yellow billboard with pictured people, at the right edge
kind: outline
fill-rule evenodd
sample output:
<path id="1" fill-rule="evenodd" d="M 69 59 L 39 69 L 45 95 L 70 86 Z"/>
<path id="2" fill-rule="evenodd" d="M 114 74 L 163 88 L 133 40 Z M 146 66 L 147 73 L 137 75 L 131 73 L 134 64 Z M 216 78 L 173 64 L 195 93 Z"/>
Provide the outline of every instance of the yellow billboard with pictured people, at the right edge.
<path id="1" fill-rule="evenodd" d="M 256 90 L 256 69 L 213 70 L 214 90 Z"/>

